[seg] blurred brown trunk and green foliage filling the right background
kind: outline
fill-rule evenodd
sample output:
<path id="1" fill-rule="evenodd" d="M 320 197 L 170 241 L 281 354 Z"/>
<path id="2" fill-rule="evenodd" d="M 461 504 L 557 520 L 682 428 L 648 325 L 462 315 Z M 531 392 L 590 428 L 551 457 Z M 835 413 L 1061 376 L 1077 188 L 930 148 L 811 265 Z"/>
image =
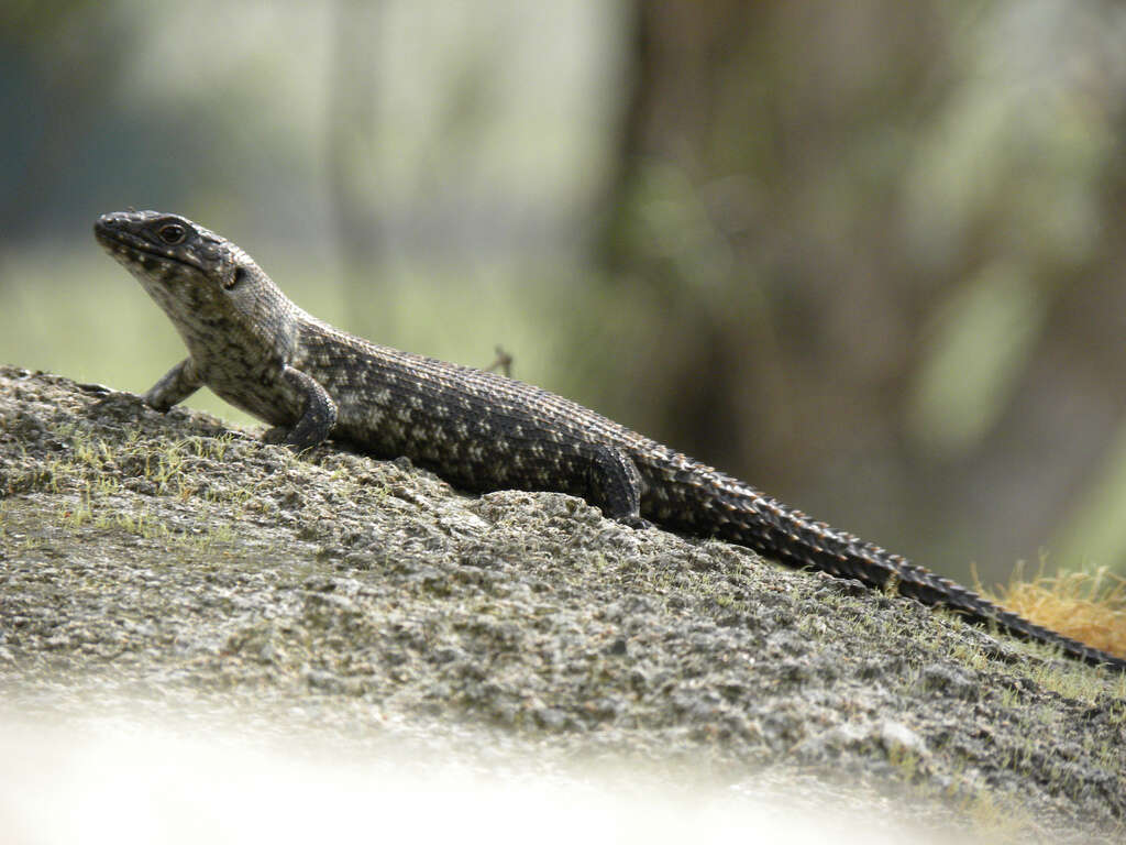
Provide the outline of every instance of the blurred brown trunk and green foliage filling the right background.
<path id="1" fill-rule="evenodd" d="M 924 561 L 1035 557 L 1126 411 L 1126 11 L 633 9 L 598 250 L 674 319 L 600 403 Z"/>

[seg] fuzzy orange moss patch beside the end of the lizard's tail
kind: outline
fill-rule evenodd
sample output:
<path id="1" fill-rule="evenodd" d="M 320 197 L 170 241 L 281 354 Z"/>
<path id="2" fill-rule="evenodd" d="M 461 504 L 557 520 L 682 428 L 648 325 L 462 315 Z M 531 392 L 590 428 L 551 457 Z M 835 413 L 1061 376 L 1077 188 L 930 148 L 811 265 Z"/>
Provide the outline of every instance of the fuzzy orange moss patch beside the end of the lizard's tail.
<path id="1" fill-rule="evenodd" d="M 1126 657 L 1126 579 L 1106 568 L 1021 580 L 1018 566 L 995 601 L 1038 625 Z"/>

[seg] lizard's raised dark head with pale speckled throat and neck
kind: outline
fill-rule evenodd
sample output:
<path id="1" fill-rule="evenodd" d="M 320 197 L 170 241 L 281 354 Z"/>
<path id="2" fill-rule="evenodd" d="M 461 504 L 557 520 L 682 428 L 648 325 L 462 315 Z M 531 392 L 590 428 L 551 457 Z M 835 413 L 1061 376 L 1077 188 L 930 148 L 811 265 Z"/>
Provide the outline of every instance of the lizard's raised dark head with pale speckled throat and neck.
<path id="1" fill-rule="evenodd" d="M 188 348 L 213 352 L 215 337 L 284 355 L 294 308 L 254 260 L 231 241 L 177 214 L 102 214 L 98 242 L 132 273 L 171 319 Z"/>

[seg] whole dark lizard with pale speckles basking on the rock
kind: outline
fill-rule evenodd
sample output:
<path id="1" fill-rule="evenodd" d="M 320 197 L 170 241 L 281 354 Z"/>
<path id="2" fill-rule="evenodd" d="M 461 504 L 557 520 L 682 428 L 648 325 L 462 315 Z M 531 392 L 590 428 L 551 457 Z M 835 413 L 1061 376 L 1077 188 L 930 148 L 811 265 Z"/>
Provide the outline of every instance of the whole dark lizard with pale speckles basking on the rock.
<path id="1" fill-rule="evenodd" d="M 93 230 L 188 348 L 142 397 L 158 411 L 207 385 L 298 452 L 331 438 L 377 459 L 406 456 L 470 492 L 579 496 L 627 525 L 733 542 L 1126 671 L 1126 659 L 1037 625 L 577 402 L 341 331 L 298 308 L 241 248 L 186 217 L 131 210 L 101 215 Z"/>

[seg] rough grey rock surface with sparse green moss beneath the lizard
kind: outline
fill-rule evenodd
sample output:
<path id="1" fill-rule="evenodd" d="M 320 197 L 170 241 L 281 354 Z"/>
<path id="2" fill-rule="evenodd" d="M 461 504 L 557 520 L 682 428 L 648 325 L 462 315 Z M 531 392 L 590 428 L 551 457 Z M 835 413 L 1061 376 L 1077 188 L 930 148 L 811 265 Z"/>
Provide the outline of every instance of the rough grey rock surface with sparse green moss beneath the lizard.
<path id="1" fill-rule="evenodd" d="M 869 815 L 1025 842 L 1126 819 L 1115 674 L 580 499 L 468 497 L 403 460 L 295 456 L 12 367 L 0 697 L 444 737 L 548 768 L 785 771 L 816 776 L 808 807 L 852 788 Z"/>

